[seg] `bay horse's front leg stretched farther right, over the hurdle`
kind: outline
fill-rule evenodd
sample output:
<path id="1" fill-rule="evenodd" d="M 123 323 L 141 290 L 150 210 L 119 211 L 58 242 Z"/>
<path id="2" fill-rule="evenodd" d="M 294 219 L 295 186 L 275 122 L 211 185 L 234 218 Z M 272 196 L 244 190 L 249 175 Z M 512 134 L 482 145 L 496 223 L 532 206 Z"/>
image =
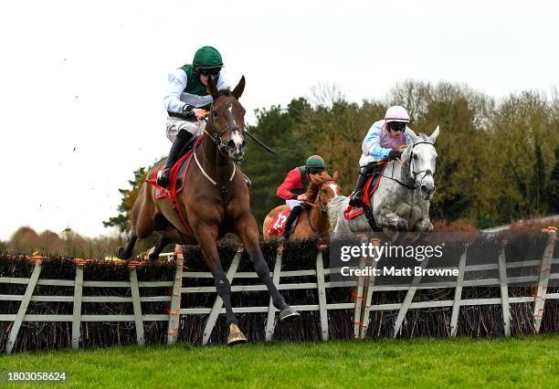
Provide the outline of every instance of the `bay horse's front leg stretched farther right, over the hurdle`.
<path id="1" fill-rule="evenodd" d="M 280 320 L 292 320 L 297 319 L 301 316 L 296 310 L 293 310 L 280 295 L 278 288 L 274 285 L 273 280 L 269 277 L 269 267 L 262 251 L 260 250 L 260 244 L 258 241 L 258 226 L 254 216 L 248 214 L 248 216 L 242 216 L 237 219 L 236 223 L 237 235 L 243 242 L 243 246 L 248 252 L 248 255 L 252 259 L 252 264 L 254 270 L 258 274 L 258 278 L 266 285 L 269 294 L 272 298 L 274 307 L 280 310 Z"/>

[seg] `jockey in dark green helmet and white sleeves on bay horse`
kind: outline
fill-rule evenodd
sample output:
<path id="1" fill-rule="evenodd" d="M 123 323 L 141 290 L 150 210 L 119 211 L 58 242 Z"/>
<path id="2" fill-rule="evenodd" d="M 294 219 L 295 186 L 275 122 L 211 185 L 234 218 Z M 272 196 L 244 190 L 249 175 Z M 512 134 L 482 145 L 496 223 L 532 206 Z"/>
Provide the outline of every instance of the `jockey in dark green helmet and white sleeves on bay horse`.
<path id="1" fill-rule="evenodd" d="M 207 80 L 216 79 L 217 89 L 227 89 L 229 84 L 223 75 L 223 59 L 211 46 L 200 47 L 195 52 L 192 65 L 177 68 L 169 74 L 167 93 L 163 105 L 167 110 L 167 138 L 173 145 L 165 167 L 157 176 L 157 184 L 167 187 L 171 168 L 181 151 L 188 151 L 195 137 L 202 134 L 206 110 L 212 104 L 207 93 Z"/>

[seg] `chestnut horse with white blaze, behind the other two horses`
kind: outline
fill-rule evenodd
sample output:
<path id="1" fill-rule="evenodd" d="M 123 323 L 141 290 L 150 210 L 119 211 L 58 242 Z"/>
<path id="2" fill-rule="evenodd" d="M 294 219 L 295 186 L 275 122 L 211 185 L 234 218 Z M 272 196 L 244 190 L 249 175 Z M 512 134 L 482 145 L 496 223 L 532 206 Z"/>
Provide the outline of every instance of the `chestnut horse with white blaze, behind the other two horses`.
<path id="1" fill-rule="evenodd" d="M 312 177 L 306 193 L 308 199 L 306 203 L 310 205 L 310 209 L 305 208 L 303 210 L 301 216 L 299 216 L 299 223 L 295 226 L 289 240 L 330 237 L 330 220 L 326 205 L 332 198 L 341 195 L 340 185 L 336 184 L 337 180 L 338 172 L 335 172 L 333 177 L 325 172 Z M 276 215 L 286 209 L 288 209 L 287 205 L 280 205 L 269 211 L 262 226 L 264 237 L 270 237 L 268 233 L 269 224 Z"/>

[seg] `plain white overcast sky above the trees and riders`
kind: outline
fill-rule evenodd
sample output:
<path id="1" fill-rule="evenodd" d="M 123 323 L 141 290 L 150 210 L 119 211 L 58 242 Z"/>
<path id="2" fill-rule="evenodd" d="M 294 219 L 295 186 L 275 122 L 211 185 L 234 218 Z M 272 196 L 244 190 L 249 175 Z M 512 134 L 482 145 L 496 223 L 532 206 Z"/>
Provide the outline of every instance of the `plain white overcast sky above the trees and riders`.
<path id="1" fill-rule="evenodd" d="M 198 47 L 220 50 L 232 83 L 246 75 L 249 112 L 320 83 L 357 101 L 404 79 L 499 97 L 557 85 L 558 16 L 543 1 L 4 1 L 0 239 L 109 233 L 117 189 L 168 152 L 167 74 Z"/>

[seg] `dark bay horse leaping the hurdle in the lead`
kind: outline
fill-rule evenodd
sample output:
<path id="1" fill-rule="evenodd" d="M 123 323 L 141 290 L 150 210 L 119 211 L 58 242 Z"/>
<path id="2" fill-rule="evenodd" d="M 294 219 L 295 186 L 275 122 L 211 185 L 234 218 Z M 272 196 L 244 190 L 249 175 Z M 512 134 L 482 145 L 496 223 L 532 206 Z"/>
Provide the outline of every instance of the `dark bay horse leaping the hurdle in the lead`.
<path id="1" fill-rule="evenodd" d="M 217 90 L 214 79 L 208 79 L 207 91 L 213 102 L 206 134 L 194 150 L 195 161 L 191 162 L 185 176 L 185 189 L 178 195 L 187 222 L 174 211 L 170 200 L 155 198 L 155 186 L 144 182 L 132 207 L 130 241 L 118 250 L 120 258 L 130 259 L 136 239 L 149 237 L 153 231 L 160 232 L 161 237 L 150 258 L 157 258 L 169 243 L 199 245 L 214 276 L 217 295 L 226 308 L 227 344 L 247 342 L 231 308 L 231 285 L 217 253 L 216 241 L 227 233 L 236 233 L 242 241 L 258 278 L 267 286 L 274 306 L 280 310 L 280 321 L 300 317 L 299 312 L 285 302 L 270 278 L 258 242 L 258 226 L 250 210 L 248 185 L 239 167 L 246 149 L 246 111 L 238 101 L 244 89 L 244 76 L 233 91 Z M 154 171 L 164 162 L 157 163 L 148 177 L 153 177 Z"/>

